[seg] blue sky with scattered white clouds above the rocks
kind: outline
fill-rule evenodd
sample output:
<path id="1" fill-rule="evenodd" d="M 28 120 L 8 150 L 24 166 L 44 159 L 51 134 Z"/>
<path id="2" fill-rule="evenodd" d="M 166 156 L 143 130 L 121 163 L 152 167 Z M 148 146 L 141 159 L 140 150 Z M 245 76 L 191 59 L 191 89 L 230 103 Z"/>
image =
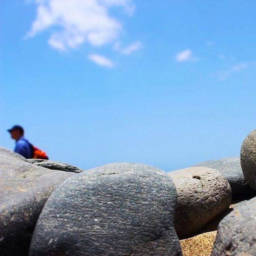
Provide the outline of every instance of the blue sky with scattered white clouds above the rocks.
<path id="1" fill-rule="evenodd" d="M 164 171 L 238 156 L 256 128 L 253 1 L 3 0 L 0 145 Z"/>

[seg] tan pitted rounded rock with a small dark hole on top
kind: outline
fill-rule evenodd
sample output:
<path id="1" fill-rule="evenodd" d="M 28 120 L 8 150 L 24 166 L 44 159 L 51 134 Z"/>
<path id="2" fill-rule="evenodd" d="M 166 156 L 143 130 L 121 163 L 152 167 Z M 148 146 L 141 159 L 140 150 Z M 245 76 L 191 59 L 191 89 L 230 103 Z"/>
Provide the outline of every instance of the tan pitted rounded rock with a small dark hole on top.
<path id="1" fill-rule="evenodd" d="M 230 184 L 214 169 L 189 167 L 167 174 L 177 189 L 174 223 L 179 238 L 200 230 L 231 203 Z"/>

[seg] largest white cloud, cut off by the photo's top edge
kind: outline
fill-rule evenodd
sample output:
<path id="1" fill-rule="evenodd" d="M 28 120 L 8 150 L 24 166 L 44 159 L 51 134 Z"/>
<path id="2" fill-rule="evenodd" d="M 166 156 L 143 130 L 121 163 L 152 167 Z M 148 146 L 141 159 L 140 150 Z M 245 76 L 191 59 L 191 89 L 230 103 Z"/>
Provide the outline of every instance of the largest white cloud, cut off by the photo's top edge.
<path id="1" fill-rule="evenodd" d="M 76 48 L 84 42 L 102 46 L 118 38 L 122 30 L 119 20 L 108 10 L 117 6 L 132 15 L 132 0 L 34 0 L 36 20 L 27 36 L 52 28 L 48 43 L 59 50 Z"/>

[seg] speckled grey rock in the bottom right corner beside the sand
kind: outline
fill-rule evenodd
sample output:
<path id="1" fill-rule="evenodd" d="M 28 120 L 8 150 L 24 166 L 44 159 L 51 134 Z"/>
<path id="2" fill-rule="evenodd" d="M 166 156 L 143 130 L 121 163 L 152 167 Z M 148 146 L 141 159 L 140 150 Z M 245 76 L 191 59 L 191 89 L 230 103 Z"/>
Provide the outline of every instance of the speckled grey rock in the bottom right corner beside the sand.
<path id="1" fill-rule="evenodd" d="M 218 225 L 211 256 L 255 255 L 256 197 L 236 207 Z"/>

